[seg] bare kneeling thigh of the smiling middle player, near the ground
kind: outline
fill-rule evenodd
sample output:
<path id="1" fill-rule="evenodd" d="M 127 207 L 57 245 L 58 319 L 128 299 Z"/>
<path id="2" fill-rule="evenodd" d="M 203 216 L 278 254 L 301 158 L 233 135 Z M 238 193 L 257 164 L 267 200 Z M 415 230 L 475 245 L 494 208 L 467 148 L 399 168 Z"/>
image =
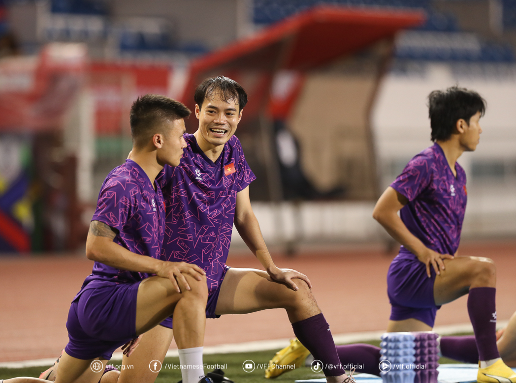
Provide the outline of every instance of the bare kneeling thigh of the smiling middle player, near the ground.
<path id="1" fill-rule="evenodd" d="M 131 356 L 123 356 L 118 383 L 153 383 L 158 374 L 149 364 L 153 360 L 163 363 L 172 338 L 172 329 L 159 325 L 143 334 Z"/>

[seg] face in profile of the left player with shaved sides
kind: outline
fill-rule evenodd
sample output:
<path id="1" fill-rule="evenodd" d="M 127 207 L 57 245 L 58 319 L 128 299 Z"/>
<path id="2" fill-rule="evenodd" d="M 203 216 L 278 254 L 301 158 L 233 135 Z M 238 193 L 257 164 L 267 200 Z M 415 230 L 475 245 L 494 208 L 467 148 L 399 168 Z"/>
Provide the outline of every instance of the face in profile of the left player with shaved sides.
<path id="1" fill-rule="evenodd" d="M 162 147 L 158 148 L 157 160 L 160 165 L 168 164 L 178 166 L 183 157 L 183 149 L 186 142 L 183 137 L 185 134 L 185 121 L 183 119 L 166 121 L 165 134 L 163 135 Z"/>

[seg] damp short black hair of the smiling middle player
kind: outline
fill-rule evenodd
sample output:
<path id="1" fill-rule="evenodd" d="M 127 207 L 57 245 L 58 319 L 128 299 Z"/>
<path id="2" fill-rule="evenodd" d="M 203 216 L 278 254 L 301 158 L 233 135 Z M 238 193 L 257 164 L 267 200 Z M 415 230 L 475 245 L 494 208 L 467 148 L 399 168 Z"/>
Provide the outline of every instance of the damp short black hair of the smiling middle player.
<path id="1" fill-rule="evenodd" d="M 193 99 L 199 108 L 207 96 L 219 93 L 223 101 L 234 100 L 238 105 L 239 111 L 244 109 L 247 104 L 247 93 L 238 82 L 225 76 L 209 77 L 199 84 L 193 95 Z"/>

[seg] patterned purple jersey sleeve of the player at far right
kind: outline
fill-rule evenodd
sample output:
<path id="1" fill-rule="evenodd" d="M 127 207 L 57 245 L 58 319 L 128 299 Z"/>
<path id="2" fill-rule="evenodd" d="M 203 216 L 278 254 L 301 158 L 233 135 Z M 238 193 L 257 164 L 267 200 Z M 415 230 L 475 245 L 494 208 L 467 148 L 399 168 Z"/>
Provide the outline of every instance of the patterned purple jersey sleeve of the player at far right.
<path id="1" fill-rule="evenodd" d="M 391 187 L 413 201 L 430 185 L 433 177 L 431 169 L 433 161 L 425 156 L 412 158 Z"/>

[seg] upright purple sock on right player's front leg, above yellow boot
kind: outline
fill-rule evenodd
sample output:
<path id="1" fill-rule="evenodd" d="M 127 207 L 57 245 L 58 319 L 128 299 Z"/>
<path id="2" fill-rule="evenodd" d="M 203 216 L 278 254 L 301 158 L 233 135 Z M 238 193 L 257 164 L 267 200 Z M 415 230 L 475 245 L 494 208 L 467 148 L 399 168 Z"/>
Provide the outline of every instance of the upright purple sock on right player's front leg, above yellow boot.
<path id="1" fill-rule="evenodd" d="M 500 357 L 496 347 L 496 289 L 476 287 L 467 297 L 467 312 L 470 314 L 480 360 Z"/>

